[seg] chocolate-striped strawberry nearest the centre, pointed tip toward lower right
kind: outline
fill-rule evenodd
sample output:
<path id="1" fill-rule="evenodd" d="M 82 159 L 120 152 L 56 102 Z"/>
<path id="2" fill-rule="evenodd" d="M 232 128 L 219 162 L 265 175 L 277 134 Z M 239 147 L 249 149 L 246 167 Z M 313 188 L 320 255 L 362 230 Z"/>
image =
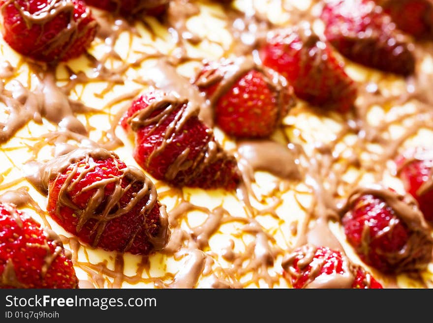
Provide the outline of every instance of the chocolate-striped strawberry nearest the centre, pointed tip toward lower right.
<path id="1" fill-rule="evenodd" d="M 121 123 L 136 132 L 134 158 L 156 179 L 178 187 L 237 187 L 236 159 L 216 143 L 198 110 L 176 93 L 155 90 L 140 96 Z"/>

